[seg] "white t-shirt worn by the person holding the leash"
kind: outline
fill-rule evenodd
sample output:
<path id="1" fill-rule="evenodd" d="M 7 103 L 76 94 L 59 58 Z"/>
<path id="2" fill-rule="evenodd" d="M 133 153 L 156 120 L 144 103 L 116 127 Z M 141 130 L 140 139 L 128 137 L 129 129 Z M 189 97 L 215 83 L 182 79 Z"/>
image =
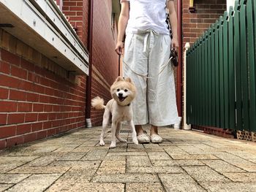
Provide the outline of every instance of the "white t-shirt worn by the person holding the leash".
<path id="1" fill-rule="evenodd" d="M 166 0 L 121 0 L 129 1 L 129 20 L 126 33 L 153 29 L 159 34 L 170 34 L 167 29 Z"/>

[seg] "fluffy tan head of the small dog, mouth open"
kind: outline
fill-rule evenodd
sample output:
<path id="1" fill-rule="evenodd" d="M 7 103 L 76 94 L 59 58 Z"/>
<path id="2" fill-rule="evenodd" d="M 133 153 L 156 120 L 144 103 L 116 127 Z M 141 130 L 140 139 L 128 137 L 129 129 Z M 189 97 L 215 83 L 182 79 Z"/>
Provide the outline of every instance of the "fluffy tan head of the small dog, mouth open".
<path id="1" fill-rule="evenodd" d="M 110 92 L 113 99 L 115 99 L 119 105 L 125 106 L 135 98 L 136 88 L 129 77 L 125 80 L 122 77 L 117 77 L 110 88 Z"/>

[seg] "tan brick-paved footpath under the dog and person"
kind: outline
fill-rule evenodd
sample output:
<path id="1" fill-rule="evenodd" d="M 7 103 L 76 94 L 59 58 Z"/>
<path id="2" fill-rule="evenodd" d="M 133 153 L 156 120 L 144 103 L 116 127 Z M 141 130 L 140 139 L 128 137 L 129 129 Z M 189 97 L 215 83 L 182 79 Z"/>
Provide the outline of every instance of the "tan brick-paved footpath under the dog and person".
<path id="1" fill-rule="evenodd" d="M 0 152 L 0 191 L 256 191 L 256 144 L 161 128 L 162 144 L 99 146 L 83 128 Z M 148 131 L 148 127 L 146 127 Z"/>

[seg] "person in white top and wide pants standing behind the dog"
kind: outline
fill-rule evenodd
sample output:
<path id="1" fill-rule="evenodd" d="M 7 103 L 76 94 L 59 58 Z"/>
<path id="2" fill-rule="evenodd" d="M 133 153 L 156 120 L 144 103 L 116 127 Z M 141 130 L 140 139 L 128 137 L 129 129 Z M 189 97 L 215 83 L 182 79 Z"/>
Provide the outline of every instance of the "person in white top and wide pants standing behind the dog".
<path id="1" fill-rule="evenodd" d="M 170 13 L 172 39 L 167 29 L 165 7 Z M 170 48 L 178 51 L 177 16 L 172 0 L 121 0 L 116 53 L 124 44 L 124 77 L 131 77 L 138 89 L 132 103 L 140 143 L 162 142 L 159 126 L 178 122 L 173 68 L 167 64 Z M 150 136 L 142 125 L 150 123 Z"/>

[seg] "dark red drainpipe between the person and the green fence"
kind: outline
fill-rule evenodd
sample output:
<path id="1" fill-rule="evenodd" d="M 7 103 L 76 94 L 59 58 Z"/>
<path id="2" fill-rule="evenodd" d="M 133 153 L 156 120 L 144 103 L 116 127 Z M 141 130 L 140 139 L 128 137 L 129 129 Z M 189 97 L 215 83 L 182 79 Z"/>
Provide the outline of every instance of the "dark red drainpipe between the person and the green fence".
<path id="1" fill-rule="evenodd" d="M 177 1 L 178 13 L 178 72 L 177 72 L 177 108 L 182 117 L 182 0 Z"/>

